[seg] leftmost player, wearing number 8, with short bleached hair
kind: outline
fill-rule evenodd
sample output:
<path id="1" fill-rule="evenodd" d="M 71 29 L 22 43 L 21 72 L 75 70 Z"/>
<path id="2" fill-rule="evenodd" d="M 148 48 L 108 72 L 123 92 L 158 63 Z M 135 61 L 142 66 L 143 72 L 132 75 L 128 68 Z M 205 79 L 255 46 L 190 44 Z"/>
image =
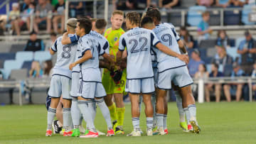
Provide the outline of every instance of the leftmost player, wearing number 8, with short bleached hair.
<path id="1" fill-rule="evenodd" d="M 70 36 L 75 34 L 76 23 L 77 21 L 75 18 L 70 18 L 68 20 L 68 33 Z M 52 135 L 53 118 L 61 94 L 63 95 L 63 128 L 65 129 L 63 136 L 70 136 L 72 134 L 72 131 L 70 131 L 70 123 L 72 121 L 70 113 L 72 99 L 70 96 L 70 85 L 72 72 L 69 70 L 69 65 L 75 61 L 77 45 L 63 45 L 61 39 L 62 36 L 57 38 L 50 49 L 51 55 L 54 55 L 55 52 L 57 52 L 57 62 L 53 68 L 53 75 L 50 80 L 50 89 L 48 92 L 48 95 L 51 98 L 51 103 L 47 115 L 46 136 Z"/>

